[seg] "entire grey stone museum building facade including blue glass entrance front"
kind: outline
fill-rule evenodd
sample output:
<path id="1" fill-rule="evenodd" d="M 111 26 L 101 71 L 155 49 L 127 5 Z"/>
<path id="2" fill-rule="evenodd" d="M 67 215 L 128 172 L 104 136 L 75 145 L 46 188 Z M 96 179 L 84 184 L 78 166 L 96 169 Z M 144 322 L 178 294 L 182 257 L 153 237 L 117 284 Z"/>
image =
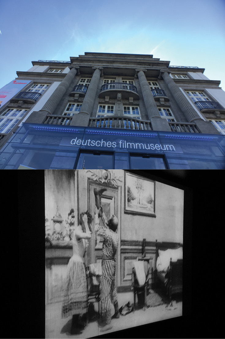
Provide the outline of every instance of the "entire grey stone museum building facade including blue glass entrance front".
<path id="1" fill-rule="evenodd" d="M 32 65 L 0 107 L 0 168 L 225 168 L 225 92 L 203 68 L 117 53 Z"/>

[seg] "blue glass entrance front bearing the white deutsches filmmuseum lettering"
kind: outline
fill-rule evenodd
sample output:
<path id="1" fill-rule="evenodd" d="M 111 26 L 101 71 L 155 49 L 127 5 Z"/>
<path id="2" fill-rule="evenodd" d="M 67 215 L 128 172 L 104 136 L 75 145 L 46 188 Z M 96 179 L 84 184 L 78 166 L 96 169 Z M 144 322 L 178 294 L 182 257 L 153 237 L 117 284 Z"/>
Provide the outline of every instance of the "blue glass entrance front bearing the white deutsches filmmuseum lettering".
<path id="1" fill-rule="evenodd" d="M 97 162 L 123 169 L 225 169 L 225 136 L 23 123 L 0 153 L 1 169 L 89 168 Z"/>

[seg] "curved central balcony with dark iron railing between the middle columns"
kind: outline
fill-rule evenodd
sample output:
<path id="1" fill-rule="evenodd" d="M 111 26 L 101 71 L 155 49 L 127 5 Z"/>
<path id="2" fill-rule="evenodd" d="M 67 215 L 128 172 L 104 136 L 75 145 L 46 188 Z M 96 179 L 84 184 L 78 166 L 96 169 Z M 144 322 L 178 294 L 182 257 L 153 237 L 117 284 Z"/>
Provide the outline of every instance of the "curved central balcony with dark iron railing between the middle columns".
<path id="1" fill-rule="evenodd" d="M 136 86 L 124 82 L 110 82 L 102 85 L 99 98 L 109 96 L 110 99 L 116 99 L 117 94 L 121 93 L 122 99 L 133 97 L 134 100 L 139 100 Z"/>

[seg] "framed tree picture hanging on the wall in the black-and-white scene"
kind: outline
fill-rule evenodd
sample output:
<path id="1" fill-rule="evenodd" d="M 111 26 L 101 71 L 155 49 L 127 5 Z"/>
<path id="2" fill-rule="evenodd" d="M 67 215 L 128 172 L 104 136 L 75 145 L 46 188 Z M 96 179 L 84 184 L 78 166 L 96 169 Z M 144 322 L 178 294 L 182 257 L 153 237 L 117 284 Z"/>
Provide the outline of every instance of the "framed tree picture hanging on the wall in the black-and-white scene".
<path id="1" fill-rule="evenodd" d="M 125 172 L 124 212 L 156 217 L 155 181 Z"/>

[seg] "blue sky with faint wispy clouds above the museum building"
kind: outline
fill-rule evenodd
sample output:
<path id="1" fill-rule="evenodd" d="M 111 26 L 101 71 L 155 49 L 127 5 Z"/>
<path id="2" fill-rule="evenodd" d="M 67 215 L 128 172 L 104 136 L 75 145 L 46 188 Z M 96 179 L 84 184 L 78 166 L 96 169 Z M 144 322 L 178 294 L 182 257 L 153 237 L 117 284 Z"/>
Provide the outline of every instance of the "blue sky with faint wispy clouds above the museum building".
<path id="1" fill-rule="evenodd" d="M 225 90 L 224 0 L 0 0 L 0 88 L 33 60 L 153 54 L 198 66 Z"/>

